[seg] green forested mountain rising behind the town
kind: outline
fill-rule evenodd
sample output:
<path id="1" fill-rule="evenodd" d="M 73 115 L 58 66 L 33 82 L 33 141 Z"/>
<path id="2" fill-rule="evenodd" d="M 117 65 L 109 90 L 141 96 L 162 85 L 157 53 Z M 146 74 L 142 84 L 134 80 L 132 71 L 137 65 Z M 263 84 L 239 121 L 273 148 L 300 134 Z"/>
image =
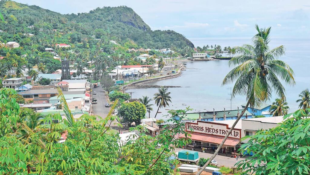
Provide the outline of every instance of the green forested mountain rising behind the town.
<path id="1" fill-rule="evenodd" d="M 128 47 L 194 47 L 193 43 L 175 31 L 152 31 L 138 14 L 126 6 L 98 7 L 89 13 L 62 15 L 38 6 L 0 1 L 0 12 L 5 21 L 0 23 L 0 29 L 6 32 L 1 34 L 5 40 L 14 40 L 14 37 L 10 38 L 8 35 L 20 32 L 39 35 L 39 29 L 44 29 L 45 33 L 57 30 L 61 37 L 46 36 L 46 43 L 43 45 L 68 42 L 68 38 L 72 44 L 81 43 L 83 39 L 100 38 L 113 39 L 122 45 L 126 42 L 133 44 L 127 44 Z M 34 28 L 27 28 L 30 25 L 34 25 Z"/>

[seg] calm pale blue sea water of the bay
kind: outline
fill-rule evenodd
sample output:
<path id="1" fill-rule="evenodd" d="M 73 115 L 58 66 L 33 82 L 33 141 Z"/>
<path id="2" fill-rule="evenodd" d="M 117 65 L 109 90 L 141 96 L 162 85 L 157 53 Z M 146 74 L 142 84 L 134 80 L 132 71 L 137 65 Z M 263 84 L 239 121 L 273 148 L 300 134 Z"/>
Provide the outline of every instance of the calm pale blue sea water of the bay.
<path id="1" fill-rule="evenodd" d="M 250 39 L 217 39 L 217 40 L 192 40 L 195 45 L 214 45 L 219 44 L 225 46 L 239 46 L 241 44 L 250 44 Z M 294 70 L 296 85 L 294 87 L 286 86 L 286 98 L 293 112 L 298 108 L 295 102 L 298 94 L 310 88 L 310 39 L 273 39 L 270 43 L 271 48 L 279 45 L 286 47 L 286 55 L 281 57 Z M 193 108 L 193 112 L 212 111 L 230 109 L 230 87 L 221 86 L 224 76 L 232 69 L 228 66 L 228 61 L 206 61 L 206 62 L 186 62 L 186 71 L 176 78 L 148 83 L 149 85 L 172 85 L 181 86 L 181 88 L 169 88 L 171 92 L 170 106 L 159 109 L 160 112 L 156 118 L 163 118 L 167 114 L 168 109 L 185 109 L 187 106 Z M 157 92 L 156 88 L 148 89 L 130 89 L 127 91 L 135 92 L 132 98 L 140 98 L 143 95 L 153 97 Z M 271 102 L 277 98 L 273 96 Z M 232 99 L 232 109 L 237 109 L 241 104 L 245 103 L 245 97 L 238 96 Z M 270 103 L 271 103 L 270 102 Z M 152 102 L 154 103 L 154 101 Z M 156 105 L 151 116 L 155 116 L 157 111 Z"/>

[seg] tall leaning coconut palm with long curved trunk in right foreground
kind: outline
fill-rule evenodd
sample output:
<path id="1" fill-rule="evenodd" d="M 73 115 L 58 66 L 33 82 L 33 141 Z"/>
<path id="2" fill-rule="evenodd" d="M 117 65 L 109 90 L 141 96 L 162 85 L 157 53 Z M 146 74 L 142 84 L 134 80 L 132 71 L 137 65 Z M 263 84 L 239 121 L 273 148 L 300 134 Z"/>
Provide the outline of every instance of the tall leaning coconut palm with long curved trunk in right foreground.
<path id="1" fill-rule="evenodd" d="M 293 70 L 288 64 L 277 59 L 285 54 L 284 46 L 279 46 L 271 50 L 269 49 L 270 29 L 270 27 L 267 29 L 259 29 L 258 25 L 256 25 L 258 34 L 252 38 L 253 46 L 243 45 L 242 47 L 236 47 L 239 55 L 232 58 L 229 61 L 229 65 L 237 67 L 233 68 L 225 76 L 222 85 L 235 82 L 232 90 L 232 97 L 244 95 L 246 96 L 247 103 L 227 135 L 219 144 L 215 153 L 197 175 L 199 175 L 219 153 L 225 140 L 235 128 L 237 122 L 243 116 L 249 105 L 260 106 L 263 102 L 271 98 L 273 91 L 278 96 L 285 99 L 285 89 L 281 84 L 281 80 L 288 85 L 295 85 Z"/>

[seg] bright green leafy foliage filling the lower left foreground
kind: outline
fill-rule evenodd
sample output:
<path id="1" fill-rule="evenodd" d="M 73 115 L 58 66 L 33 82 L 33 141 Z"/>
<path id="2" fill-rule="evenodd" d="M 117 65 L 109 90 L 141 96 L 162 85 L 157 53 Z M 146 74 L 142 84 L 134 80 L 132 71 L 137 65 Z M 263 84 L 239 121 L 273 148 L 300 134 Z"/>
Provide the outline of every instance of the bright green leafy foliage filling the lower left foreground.
<path id="1" fill-rule="evenodd" d="M 166 175 L 174 173 L 171 166 L 178 163 L 168 159 L 174 147 L 190 142 L 175 137 L 187 132 L 183 122 L 171 118 L 175 127 L 166 125 L 155 137 L 148 136 L 141 126 L 132 128 L 140 133 L 139 137 L 132 135 L 127 143 L 120 144 L 118 133 L 110 127 L 119 120 L 111 115 L 115 105 L 105 119 L 87 114 L 73 118 L 61 90 L 64 118 L 59 114 L 40 118 L 23 112 L 22 119 L 19 105 L 10 97 L 15 93 L 13 89 L 0 90 L 0 159 L 4 160 L 0 161 L 0 173 L 3 175 Z M 169 116 L 187 111 L 172 110 Z M 158 148 L 158 145 L 162 146 Z"/>

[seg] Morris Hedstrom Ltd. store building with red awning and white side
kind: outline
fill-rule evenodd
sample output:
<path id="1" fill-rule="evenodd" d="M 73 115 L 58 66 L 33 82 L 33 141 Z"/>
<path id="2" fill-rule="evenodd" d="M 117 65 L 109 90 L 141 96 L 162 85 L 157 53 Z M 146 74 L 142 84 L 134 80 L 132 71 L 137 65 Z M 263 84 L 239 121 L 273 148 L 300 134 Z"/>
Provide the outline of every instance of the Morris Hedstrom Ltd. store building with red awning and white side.
<path id="1" fill-rule="evenodd" d="M 196 121 L 186 122 L 185 130 L 190 132 L 189 137 L 192 143 L 187 145 L 187 149 L 201 150 L 206 152 L 215 151 L 222 142 L 227 132 L 236 120 L 223 120 L 215 122 Z M 252 136 L 259 130 L 268 130 L 278 126 L 283 121 L 283 116 L 247 118 L 241 119 L 232 130 L 228 139 L 222 146 L 220 153 L 235 154 L 238 152 L 241 144 L 247 143 L 249 139 L 241 140 L 244 136 Z M 184 138 L 184 134 L 178 137 Z M 237 155 L 240 155 L 237 153 Z"/>

